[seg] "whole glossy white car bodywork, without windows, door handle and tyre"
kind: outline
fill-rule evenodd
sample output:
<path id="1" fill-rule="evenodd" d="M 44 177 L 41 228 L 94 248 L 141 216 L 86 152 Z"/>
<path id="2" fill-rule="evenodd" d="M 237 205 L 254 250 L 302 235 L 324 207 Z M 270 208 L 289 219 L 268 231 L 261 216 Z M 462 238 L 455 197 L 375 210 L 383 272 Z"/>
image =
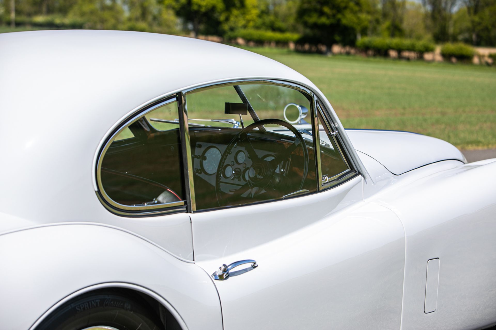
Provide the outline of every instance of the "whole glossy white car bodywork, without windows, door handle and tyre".
<path id="1" fill-rule="evenodd" d="M 36 330 L 100 287 L 143 292 L 189 330 L 496 323 L 496 159 L 466 164 L 438 139 L 345 130 L 303 75 L 225 45 L 41 31 L 1 34 L 0 50 L 1 329 Z M 98 155 L 126 118 L 167 95 L 249 79 L 310 90 L 360 175 L 207 212 L 136 218 L 102 205 Z M 258 267 L 212 279 L 243 259 Z"/>

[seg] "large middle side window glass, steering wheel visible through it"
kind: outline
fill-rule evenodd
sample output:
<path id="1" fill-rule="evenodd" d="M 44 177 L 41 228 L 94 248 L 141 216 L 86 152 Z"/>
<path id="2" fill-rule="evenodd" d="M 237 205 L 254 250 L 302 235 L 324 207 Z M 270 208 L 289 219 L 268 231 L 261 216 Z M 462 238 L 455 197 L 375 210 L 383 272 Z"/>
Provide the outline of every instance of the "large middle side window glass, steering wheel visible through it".
<path id="1" fill-rule="evenodd" d="M 298 90 L 265 84 L 186 94 L 196 209 L 315 191 L 310 104 Z"/>

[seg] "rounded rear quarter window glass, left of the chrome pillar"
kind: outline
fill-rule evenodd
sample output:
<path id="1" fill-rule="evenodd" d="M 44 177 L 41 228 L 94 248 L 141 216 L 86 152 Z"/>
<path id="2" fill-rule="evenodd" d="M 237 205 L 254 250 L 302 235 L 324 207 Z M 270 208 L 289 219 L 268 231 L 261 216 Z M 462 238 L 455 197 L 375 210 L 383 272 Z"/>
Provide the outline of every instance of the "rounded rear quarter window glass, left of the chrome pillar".
<path id="1" fill-rule="evenodd" d="M 99 178 L 109 203 L 124 209 L 146 209 L 184 201 L 177 118 L 176 101 L 157 106 L 110 143 L 101 156 Z"/>

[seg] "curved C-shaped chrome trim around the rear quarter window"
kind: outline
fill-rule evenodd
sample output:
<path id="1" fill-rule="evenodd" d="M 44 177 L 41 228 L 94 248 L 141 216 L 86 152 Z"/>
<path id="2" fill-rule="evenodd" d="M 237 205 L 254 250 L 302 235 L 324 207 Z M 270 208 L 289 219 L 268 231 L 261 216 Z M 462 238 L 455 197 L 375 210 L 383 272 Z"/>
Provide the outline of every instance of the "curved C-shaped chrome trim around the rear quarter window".
<path id="1" fill-rule="evenodd" d="M 115 140 L 115 138 L 124 131 L 129 125 L 136 122 L 139 118 L 145 116 L 147 113 L 164 106 L 166 104 L 174 103 L 178 101 L 177 95 L 173 94 L 172 96 L 166 96 L 162 99 L 155 100 L 150 104 L 145 104 L 143 107 L 135 111 L 130 117 L 126 120 L 122 121 L 114 132 L 107 138 L 103 148 L 100 150 L 96 162 L 96 184 L 97 184 L 97 196 L 98 199 L 102 202 L 102 204 L 107 207 L 112 213 L 124 216 L 143 216 L 143 215 L 152 215 L 152 214 L 164 214 L 164 213 L 175 213 L 175 212 L 184 212 L 186 211 L 185 200 L 171 202 L 171 203 L 163 203 L 163 204 L 151 204 L 151 205 L 124 205 L 114 201 L 105 191 L 105 188 L 102 185 L 102 177 L 101 177 L 101 169 L 102 169 L 102 160 L 107 152 L 108 148 Z M 179 104 L 179 102 L 178 102 Z"/>

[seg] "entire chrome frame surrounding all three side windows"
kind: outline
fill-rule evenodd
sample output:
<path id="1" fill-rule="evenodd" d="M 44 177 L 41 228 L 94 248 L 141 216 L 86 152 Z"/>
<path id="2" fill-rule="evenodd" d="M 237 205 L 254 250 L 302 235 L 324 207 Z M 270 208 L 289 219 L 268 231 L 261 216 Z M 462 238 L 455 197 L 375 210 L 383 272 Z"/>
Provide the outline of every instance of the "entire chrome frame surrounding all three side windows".
<path id="1" fill-rule="evenodd" d="M 98 156 L 96 157 L 96 168 L 95 168 L 95 178 L 96 178 L 96 193 L 98 199 L 102 202 L 102 204 L 112 213 L 121 216 L 154 216 L 154 215 L 163 215 L 170 213 L 178 213 L 178 212 L 202 212 L 202 211 L 210 211 L 216 209 L 224 209 L 231 207 L 239 207 L 239 206 L 248 206 L 254 204 L 261 204 L 267 202 L 278 201 L 280 199 L 268 199 L 265 201 L 259 201 L 254 203 L 248 203 L 243 205 L 228 205 L 228 206 L 219 206 L 210 209 L 202 209 L 196 210 L 196 202 L 194 195 L 194 179 L 193 179 L 193 163 L 191 161 L 191 144 L 189 137 L 189 127 L 187 121 L 187 103 L 186 103 L 186 95 L 197 93 L 201 91 L 205 91 L 208 89 L 214 89 L 223 86 L 234 86 L 234 85 L 252 85 L 252 84 L 265 84 L 265 85 L 275 85 L 275 86 L 283 86 L 288 87 L 297 91 L 300 91 L 303 94 L 306 94 L 310 101 L 310 118 L 311 125 L 313 129 L 313 148 L 315 153 L 315 168 L 317 171 L 316 175 L 316 190 L 313 192 L 309 192 L 305 195 L 318 193 L 319 191 L 330 189 L 336 186 L 339 186 L 348 180 L 361 175 L 357 170 L 356 164 L 353 162 L 353 158 L 351 157 L 349 151 L 346 149 L 346 143 L 342 140 L 340 135 L 337 137 L 332 137 L 334 139 L 336 145 L 339 148 L 339 152 L 341 153 L 343 159 L 345 160 L 348 169 L 343 171 L 342 173 L 332 177 L 326 183 L 322 182 L 322 174 L 321 174 L 321 165 L 320 165 L 320 139 L 319 139 L 319 127 L 318 127 L 318 116 L 317 111 L 320 113 L 323 119 L 323 125 L 326 125 L 330 132 L 334 132 L 336 128 L 336 121 L 333 120 L 332 115 L 329 114 L 328 111 L 325 110 L 324 103 L 319 101 L 317 95 L 309 88 L 304 87 L 298 83 L 279 80 L 279 79 L 231 79 L 225 81 L 217 81 L 213 83 L 207 83 L 202 85 L 197 85 L 194 87 L 186 88 L 183 90 L 179 90 L 178 92 L 165 94 L 159 98 L 155 98 L 140 106 L 137 110 L 133 111 L 129 116 L 121 119 L 120 123 L 115 125 L 115 129 L 111 132 L 111 134 L 107 135 L 105 142 L 102 144 L 103 147 L 98 151 Z M 172 203 L 164 203 L 164 204 L 152 204 L 152 205 L 139 205 L 139 206 L 130 206 L 117 203 L 108 196 L 105 192 L 105 189 L 101 183 L 101 161 L 105 156 L 105 152 L 109 148 L 114 138 L 119 135 L 126 127 L 137 121 L 139 118 L 145 116 L 147 113 L 155 110 L 156 108 L 170 104 L 173 102 L 177 102 L 178 106 L 178 118 L 179 118 L 179 129 L 180 129 L 180 143 L 181 143 L 181 153 L 183 160 L 183 182 L 184 185 L 184 200 L 179 202 Z M 344 152 L 343 152 L 344 151 Z M 331 180 L 332 179 L 332 180 Z M 296 198 L 302 195 L 295 195 Z"/>

